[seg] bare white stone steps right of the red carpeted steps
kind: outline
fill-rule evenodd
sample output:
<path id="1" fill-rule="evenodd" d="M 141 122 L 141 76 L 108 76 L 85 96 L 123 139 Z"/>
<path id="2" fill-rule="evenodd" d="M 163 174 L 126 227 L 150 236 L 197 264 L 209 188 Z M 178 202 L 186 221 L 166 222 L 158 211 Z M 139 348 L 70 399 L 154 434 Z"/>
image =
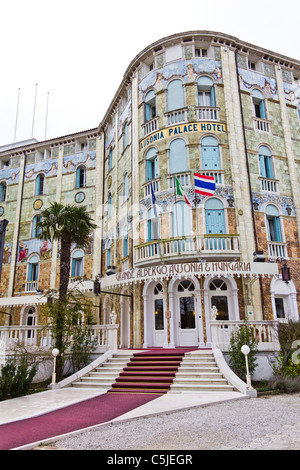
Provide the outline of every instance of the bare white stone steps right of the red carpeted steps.
<path id="1" fill-rule="evenodd" d="M 235 388 L 220 372 L 211 350 L 185 353 L 170 387 L 172 392 L 228 392 Z"/>

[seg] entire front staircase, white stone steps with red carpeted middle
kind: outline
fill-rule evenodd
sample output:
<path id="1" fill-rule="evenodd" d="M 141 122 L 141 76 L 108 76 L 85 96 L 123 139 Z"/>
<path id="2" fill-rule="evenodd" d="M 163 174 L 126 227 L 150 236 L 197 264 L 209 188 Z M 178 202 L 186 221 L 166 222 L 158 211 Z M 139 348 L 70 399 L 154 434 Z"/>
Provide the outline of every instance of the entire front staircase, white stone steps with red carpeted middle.
<path id="1" fill-rule="evenodd" d="M 221 392 L 236 390 L 223 377 L 211 350 L 177 354 L 119 350 L 72 382 L 109 393 Z"/>

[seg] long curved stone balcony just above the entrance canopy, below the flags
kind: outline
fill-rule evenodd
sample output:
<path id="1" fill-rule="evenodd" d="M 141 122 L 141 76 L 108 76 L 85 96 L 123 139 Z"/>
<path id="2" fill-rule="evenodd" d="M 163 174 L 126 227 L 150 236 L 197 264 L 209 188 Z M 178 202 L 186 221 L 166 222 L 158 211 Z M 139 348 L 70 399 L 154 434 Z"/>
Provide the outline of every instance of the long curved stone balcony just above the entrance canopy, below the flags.
<path id="1" fill-rule="evenodd" d="M 135 265 L 158 261 L 193 260 L 197 258 L 230 259 L 239 257 L 238 235 L 197 235 L 153 240 L 135 247 Z"/>

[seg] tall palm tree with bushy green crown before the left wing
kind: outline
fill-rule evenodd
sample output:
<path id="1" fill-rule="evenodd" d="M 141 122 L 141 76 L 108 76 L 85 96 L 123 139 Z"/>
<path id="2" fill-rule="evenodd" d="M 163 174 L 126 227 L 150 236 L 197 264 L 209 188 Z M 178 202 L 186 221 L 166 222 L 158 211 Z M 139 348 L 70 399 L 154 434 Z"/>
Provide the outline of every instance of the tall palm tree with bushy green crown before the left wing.
<path id="1" fill-rule="evenodd" d="M 73 243 L 79 248 L 85 248 L 89 241 L 90 233 L 97 227 L 93 222 L 86 206 L 64 206 L 58 202 L 52 202 L 48 209 L 41 213 L 42 219 L 39 238 L 43 240 L 60 241 L 60 280 L 59 298 L 63 300 L 68 291 L 71 246 Z"/>

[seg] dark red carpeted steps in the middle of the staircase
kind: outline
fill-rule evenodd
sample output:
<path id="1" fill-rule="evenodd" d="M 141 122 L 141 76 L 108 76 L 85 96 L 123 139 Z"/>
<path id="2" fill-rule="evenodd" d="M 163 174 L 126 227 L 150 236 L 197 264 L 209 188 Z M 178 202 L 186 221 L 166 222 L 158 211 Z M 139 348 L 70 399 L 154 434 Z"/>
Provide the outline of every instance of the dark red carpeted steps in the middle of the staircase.
<path id="1" fill-rule="evenodd" d="M 150 351 L 134 354 L 108 393 L 165 394 L 175 378 L 184 352 Z"/>

